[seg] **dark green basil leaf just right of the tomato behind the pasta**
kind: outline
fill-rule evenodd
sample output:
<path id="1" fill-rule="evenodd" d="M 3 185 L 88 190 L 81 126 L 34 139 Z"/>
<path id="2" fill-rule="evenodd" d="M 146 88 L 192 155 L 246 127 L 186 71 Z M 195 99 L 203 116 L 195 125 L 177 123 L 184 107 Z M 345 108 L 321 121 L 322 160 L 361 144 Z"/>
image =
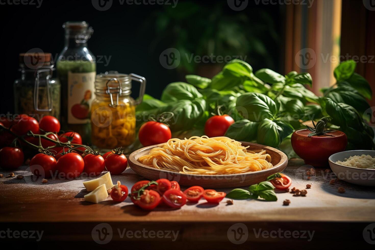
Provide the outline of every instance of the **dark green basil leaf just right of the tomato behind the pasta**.
<path id="1" fill-rule="evenodd" d="M 233 123 L 226 130 L 225 136 L 236 141 L 250 142 L 257 138 L 257 129 L 258 123 L 243 119 Z"/>

